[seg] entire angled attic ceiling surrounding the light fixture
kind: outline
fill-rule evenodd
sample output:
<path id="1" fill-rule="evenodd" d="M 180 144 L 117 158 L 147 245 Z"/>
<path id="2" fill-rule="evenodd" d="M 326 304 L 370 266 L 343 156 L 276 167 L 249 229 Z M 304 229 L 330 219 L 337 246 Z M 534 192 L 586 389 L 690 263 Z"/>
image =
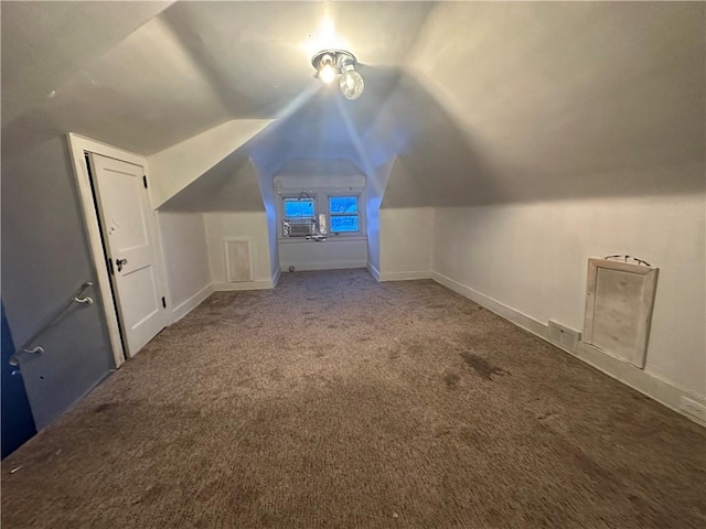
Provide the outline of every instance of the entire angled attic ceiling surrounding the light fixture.
<path id="1" fill-rule="evenodd" d="M 150 155 L 271 118 L 246 145 L 266 172 L 344 159 L 371 175 L 396 156 L 392 206 L 704 188 L 700 2 L 1 9 L 3 150 L 72 131 Z M 314 79 L 332 46 L 357 56 L 360 99 Z"/>

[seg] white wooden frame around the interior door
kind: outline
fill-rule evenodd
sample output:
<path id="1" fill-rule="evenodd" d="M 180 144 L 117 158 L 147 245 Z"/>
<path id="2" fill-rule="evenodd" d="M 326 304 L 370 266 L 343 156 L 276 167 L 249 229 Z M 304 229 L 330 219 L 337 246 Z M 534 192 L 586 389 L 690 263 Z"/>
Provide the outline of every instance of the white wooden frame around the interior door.
<path id="1" fill-rule="evenodd" d="M 71 151 L 71 161 L 74 169 L 74 176 L 76 177 L 76 186 L 83 213 L 84 226 L 86 228 L 86 237 L 88 239 L 88 247 L 90 249 L 90 259 L 96 270 L 96 277 L 98 279 L 97 287 L 98 291 L 100 292 L 100 298 L 103 299 L 103 311 L 108 328 L 108 338 L 110 341 L 110 347 L 113 349 L 115 367 L 118 368 L 125 363 L 126 353 L 125 348 L 122 347 L 122 338 L 120 336 L 119 316 L 116 310 L 117 304 L 113 295 L 113 287 L 110 284 L 110 277 L 108 274 L 106 252 L 103 246 L 103 236 L 100 234 L 98 224 L 98 213 L 94 199 L 90 175 L 88 174 L 88 168 L 86 166 L 86 152 L 93 152 L 103 156 L 113 158 L 127 163 L 132 163 L 135 165 L 140 165 L 145 170 L 146 174 L 148 173 L 147 159 L 133 152 L 108 145 L 107 143 L 101 143 L 99 141 L 90 140 L 73 132 L 66 134 L 66 138 L 68 140 L 68 149 Z M 153 244 L 157 245 L 157 281 L 162 292 L 167 292 L 162 238 L 159 230 L 157 212 L 152 205 L 152 196 L 150 194 L 149 187 L 147 192 L 148 203 L 152 212 L 151 222 L 154 233 Z M 170 295 L 167 295 L 168 324 L 172 323 L 170 298 Z"/>

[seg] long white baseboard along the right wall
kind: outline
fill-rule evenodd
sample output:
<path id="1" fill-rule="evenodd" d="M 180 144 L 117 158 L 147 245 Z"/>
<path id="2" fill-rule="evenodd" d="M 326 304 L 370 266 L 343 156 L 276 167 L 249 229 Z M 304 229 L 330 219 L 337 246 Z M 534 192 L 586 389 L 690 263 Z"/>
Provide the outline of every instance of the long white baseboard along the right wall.
<path id="1" fill-rule="evenodd" d="M 511 306 L 507 306 L 496 300 L 493 300 L 492 298 L 489 298 L 488 295 L 481 294 L 470 287 L 466 287 L 464 284 L 461 284 L 458 281 L 454 281 L 451 278 L 439 272 L 431 271 L 431 279 L 447 287 L 448 289 L 458 292 L 462 296 L 474 301 L 479 305 L 488 309 L 491 312 L 494 312 L 505 320 L 509 320 L 518 327 L 522 327 L 525 331 L 528 331 L 532 334 L 541 337 L 542 339 L 549 342 L 548 326 L 539 322 L 538 320 L 523 314 Z M 553 344 L 552 342 L 549 343 L 556 346 L 556 344 Z M 564 350 L 567 354 L 571 354 L 560 347 L 559 349 Z M 704 404 L 705 399 L 703 397 L 696 396 L 691 391 L 684 390 L 671 382 L 662 380 L 661 378 L 655 377 L 649 371 L 638 369 L 637 367 L 619 360 L 618 358 L 610 356 L 606 352 L 584 342 L 579 342 L 578 354 L 571 356 L 576 356 L 576 358 L 585 361 L 589 366 L 602 371 L 603 374 L 614 378 L 625 386 L 629 386 L 640 391 L 641 393 L 646 395 L 661 404 L 664 404 L 667 408 L 676 411 L 677 413 L 681 413 L 682 415 L 691 419 L 697 424 L 706 425 L 705 422 L 696 419 L 694 415 L 685 413 L 681 409 L 682 398 L 686 397 L 699 404 Z"/>

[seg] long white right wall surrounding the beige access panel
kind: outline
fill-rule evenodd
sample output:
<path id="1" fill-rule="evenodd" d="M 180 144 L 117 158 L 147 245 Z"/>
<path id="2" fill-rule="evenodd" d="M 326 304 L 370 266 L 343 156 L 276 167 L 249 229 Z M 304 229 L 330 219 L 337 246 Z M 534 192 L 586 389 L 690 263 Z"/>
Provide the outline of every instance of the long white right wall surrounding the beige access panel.
<path id="1" fill-rule="evenodd" d="M 644 371 L 706 395 L 703 193 L 439 208 L 434 239 L 435 272 L 579 331 L 589 257 L 627 253 L 659 267 Z"/>

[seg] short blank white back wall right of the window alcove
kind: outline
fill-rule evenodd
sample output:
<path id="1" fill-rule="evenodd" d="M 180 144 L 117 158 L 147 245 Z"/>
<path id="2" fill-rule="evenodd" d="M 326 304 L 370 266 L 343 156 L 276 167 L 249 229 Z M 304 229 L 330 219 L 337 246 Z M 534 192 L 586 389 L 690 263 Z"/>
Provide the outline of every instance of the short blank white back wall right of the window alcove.
<path id="1" fill-rule="evenodd" d="M 379 210 L 381 281 L 430 277 L 434 222 L 431 207 Z"/>

